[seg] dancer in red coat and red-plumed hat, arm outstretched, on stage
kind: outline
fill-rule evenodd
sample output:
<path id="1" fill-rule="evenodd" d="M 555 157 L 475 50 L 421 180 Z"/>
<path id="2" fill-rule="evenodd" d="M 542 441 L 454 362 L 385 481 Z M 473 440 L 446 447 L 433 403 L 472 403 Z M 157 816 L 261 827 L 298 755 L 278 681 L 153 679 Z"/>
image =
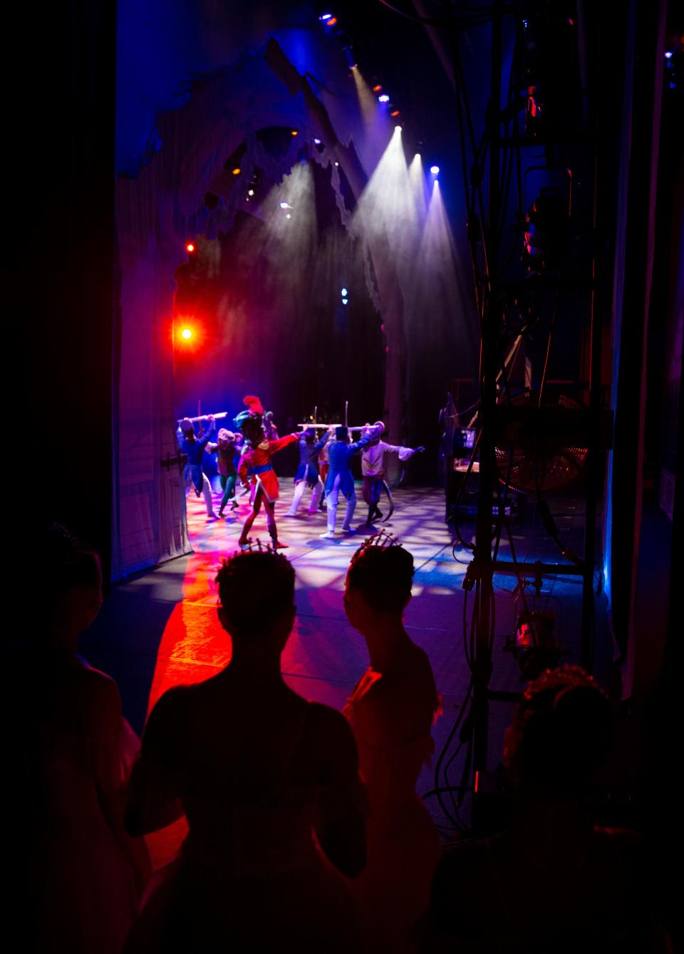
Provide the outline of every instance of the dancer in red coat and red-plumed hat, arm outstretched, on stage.
<path id="1" fill-rule="evenodd" d="M 252 406 L 257 407 L 260 404 L 253 404 Z M 242 525 L 238 542 L 240 547 L 248 542 L 247 534 L 263 504 L 266 511 L 266 527 L 273 541 L 274 550 L 283 550 L 287 547 L 287 544 L 281 543 L 278 539 L 275 504 L 279 497 L 279 486 L 278 477 L 271 464 L 271 458 L 283 447 L 299 441 L 300 435 L 299 433 L 286 434 L 285 437 L 280 437 L 277 441 L 268 441 L 263 431 L 262 420 L 257 409 L 242 411 L 235 419 L 247 445 L 239 462 L 239 478 L 243 485 L 251 484 L 252 487 L 252 512 Z"/>

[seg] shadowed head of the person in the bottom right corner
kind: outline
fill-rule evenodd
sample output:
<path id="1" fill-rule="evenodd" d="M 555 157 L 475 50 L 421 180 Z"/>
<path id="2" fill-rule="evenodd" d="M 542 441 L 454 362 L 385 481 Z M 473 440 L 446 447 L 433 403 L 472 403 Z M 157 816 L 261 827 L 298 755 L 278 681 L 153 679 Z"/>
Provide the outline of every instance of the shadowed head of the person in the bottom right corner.
<path id="1" fill-rule="evenodd" d="M 611 746 L 607 696 L 579 666 L 529 682 L 506 733 L 504 759 L 518 785 L 557 793 L 581 790 Z"/>

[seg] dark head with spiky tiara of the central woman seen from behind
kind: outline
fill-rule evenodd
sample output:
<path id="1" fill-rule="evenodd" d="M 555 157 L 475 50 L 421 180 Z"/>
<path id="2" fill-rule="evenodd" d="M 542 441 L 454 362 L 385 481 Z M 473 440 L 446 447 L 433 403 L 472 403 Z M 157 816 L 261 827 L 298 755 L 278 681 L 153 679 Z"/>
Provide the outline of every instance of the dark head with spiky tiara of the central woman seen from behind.
<path id="1" fill-rule="evenodd" d="M 280 553 L 235 553 L 217 574 L 221 625 L 245 644 L 275 637 L 285 645 L 295 621 L 295 570 Z"/>

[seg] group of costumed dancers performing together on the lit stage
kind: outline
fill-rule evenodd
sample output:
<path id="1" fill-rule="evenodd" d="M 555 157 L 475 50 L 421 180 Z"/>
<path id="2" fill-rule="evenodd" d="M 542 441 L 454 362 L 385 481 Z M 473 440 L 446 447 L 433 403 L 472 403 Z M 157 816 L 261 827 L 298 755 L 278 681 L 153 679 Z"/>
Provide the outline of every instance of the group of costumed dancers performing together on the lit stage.
<path id="1" fill-rule="evenodd" d="M 311 490 L 308 513 L 316 514 L 322 506 L 321 497 L 324 491 L 327 529 L 321 533 L 321 537 L 327 540 L 335 538 L 341 493 L 346 502 L 342 533 L 354 533 L 356 530 L 351 526 L 357 504 L 354 476 L 351 472 L 351 459 L 354 454 L 362 454 L 363 501 L 368 506 L 365 528 L 370 528 L 374 520 L 383 519 L 378 505 L 384 482 L 384 455 L 397 453 L 401 461 L 406 461 L 413 454 L 425 449 L 385 443 L 381 440 L 384 430 L 382 421 L 366 425 L 360 439 L 354 442 L 350 440 L 349 428 L 344 425 L 328 428 L 320 439 L 317 439 L 316 426 L 306 426 L 301 431 L 279 437 L 273 413 L 264 411 L 258 397 L 247 395 L 243 404 L 246 409 L 241 411 L 234 421 L 237 432 L 221 427 L 216 443 L 210 441 L 216 426 L 212 415 L 208 416 L 208 424 L 199 435 L 195 433 L 195 425 L 189 418 L 184 418 L 178 428 L 180 450 L 187 457 L 185 490 L 187 492 L 194 487 L 197 497 L 203 494 L 210 519 L 216 519 L 217 515 L 214 513 L 211 485 L 202 470 L 205 451 L 217 454 L 218 478 L 223 490 L 218 517 L 223 516 L 229 503 L 232 509 L 237 508 L 237 497 L 249 493 L 252 508 L 242 525 L 238 541 L 240 547 L 248 544 L 249 531 L 262 507 L 274 550 L 287 547 L 287 544 L 279 539 L 276 525 L 275 506 L 280 496 L 280 487 L 272 463 L 274 455 L 283 447 L 297 442 L 300 450 L 300 466 L 294 479 L 295 492 L 285 515 L 297 515 L 307 487 Z M 240 489 L 237 493 L 238 478 Z"/>

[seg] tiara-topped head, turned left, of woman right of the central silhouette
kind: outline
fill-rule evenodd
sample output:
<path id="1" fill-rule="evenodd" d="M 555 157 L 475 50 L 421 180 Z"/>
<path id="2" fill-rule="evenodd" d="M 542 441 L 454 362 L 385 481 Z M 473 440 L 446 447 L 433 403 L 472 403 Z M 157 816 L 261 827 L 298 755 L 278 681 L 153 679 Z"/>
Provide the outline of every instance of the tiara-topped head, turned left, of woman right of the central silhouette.
<path id="1" fill-rule="evenodd" d="M 413 557 L 397 545 L 379 546 L 371 537 L 356 551 L 344 584 L 344 611 L 358 630 L 378 615 L 400 616 L 411 598 Z"/>

